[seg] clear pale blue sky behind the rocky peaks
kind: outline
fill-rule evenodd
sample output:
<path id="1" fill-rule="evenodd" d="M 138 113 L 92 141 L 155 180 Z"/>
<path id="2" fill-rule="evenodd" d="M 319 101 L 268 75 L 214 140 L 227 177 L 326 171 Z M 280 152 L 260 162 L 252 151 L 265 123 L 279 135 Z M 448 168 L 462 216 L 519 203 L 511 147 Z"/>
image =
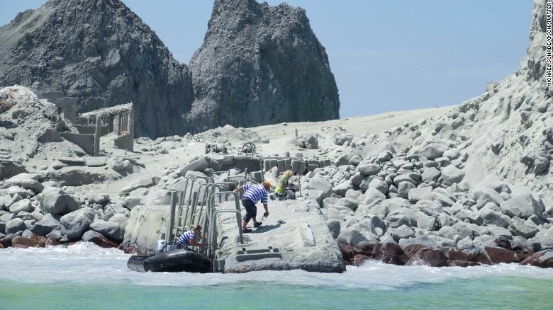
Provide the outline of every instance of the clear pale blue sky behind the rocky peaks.
<path id="1" fill-rule="evenodd" d="M 189 63 L 211 0 L 123 0 Z M 269 0 L 271 5 L 282 1 Z M 0 25 L 45 0 L 0 0 Z M 462 103 L 518 69 L 531 0 L 287 0 L 306 9 L 326 48 L 340 117 Z M 1 42 L 0 42 L 1 44 Z"/>

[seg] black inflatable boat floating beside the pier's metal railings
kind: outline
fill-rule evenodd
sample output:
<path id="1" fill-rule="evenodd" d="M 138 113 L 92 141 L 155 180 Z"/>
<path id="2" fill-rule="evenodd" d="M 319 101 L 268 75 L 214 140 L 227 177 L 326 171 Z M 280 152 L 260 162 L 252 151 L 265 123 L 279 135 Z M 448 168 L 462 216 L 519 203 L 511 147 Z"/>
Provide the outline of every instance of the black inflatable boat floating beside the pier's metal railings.
<path id="1" fill-rule="evenodd" d="M 211 260 L 196 251 L 174 250 L 154 256 L 131 256 L 127 267 L 138 272 L 211 272 Z"/>

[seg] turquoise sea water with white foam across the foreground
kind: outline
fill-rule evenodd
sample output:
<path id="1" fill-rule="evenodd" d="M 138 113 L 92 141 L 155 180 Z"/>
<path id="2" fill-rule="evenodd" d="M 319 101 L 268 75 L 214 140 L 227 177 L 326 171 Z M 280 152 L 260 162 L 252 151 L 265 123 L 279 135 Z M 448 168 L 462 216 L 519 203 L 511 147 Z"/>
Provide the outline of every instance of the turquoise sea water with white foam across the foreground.
<path id="1" fill-rule="evenodd" d="M 553 269 L 368 262 L 342 274 L 133 272 L 92 243 L 0 250 L 0 309 L 553 309 Z"/>

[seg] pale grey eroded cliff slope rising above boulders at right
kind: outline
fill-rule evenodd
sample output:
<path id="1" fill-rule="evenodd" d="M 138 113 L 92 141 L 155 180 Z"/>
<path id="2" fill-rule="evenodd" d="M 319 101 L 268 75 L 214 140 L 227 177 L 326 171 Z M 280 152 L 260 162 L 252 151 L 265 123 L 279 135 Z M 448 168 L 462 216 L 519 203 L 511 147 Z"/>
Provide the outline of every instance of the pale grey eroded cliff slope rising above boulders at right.
<path id="1" fill-rule="evenodd" d="M 545 0 L 535 0 L 527 57 L 503 81 L 445 115 L 369 137 L 368 149 L 391 144 L 416 153 L 430 143 L 454 147 L 474 185 L 496 176 L 553 203 L 553 103 L 546 87 Z"/>

